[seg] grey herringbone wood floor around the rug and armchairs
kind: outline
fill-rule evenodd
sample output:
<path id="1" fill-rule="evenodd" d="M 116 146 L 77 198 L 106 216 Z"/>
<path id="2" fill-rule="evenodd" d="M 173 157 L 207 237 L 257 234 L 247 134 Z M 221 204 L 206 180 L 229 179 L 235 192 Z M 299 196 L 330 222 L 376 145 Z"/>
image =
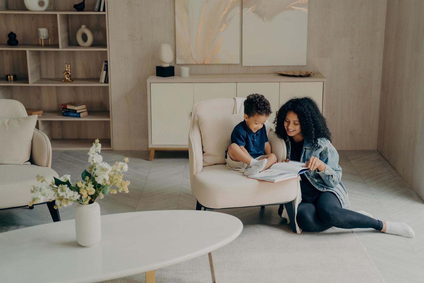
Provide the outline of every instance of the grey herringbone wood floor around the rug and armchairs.
<path id="1" fill-rule="evenodd" d="M 195 209 L 190 191 L 187 152 L 158 152 L 153 162 L 147 151 L 102 151 L 109 164 L 130 160 L 125 178 L 130 193 L 106 195 L 102 214 L 142 210 Z M 339 151 L 352 210 L 365 210 L 383 221 L 409 224 L 415 238 L 403 238 L 372 229 L 354 229 L 386 282 L 424 282 L 424 203 L 377 151 Z M 80 178 L 88 167 L 86 151 L 53 151 L 52 168 L 59 176 Z M 280 224 L 276 206 L 220 210 L 243 224 Z M 62 220 L 74 218 L 74 206 L 60 210 Z M 32 226 L 51 222 L 46 205 L 33 210 L 0 211 L 0 226 Z M 307 256 L 307 255 L 305 255 Z M 272 260 L 272 259 L 270 259 Z M 323 263 L 325 264 L 325 263 Z"/>

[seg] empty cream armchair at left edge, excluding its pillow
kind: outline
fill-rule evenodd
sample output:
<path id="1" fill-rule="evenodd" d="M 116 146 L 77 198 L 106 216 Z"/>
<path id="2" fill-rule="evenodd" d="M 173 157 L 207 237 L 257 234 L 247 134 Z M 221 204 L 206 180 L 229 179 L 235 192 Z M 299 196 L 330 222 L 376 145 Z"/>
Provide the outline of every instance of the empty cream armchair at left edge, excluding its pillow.
<path id="1" fill-rule="evenodd" d="M 16 119 L 26 116 L 28 115 L 25 107 L 19 101 L 0 99 L 1 118 Z M 31 164 L 28 165 L 0 164 L 0 210 L 28 206 L 32 200 L 31 186 L 36 184 L 37 174 L 44 176 L 47 182 L 53 177 L 59 178 L 50 168 L 52 162 L 50 140 L 37 129 L 33 132 L 29 161 Z M 47 204 L 53 221 L 60 221 L 59 210 L 53 207 L 54 201 L 39 204 Z M 34 206 L 29 208 L 33 209 Z"/>

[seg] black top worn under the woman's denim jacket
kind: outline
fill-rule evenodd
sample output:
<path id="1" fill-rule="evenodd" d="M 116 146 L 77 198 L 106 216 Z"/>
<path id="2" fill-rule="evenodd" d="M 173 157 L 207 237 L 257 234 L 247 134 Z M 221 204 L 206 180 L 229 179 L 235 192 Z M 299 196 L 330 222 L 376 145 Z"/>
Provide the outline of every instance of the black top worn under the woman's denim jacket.
<path id="1" fill-rule="evenodd" d="M 292 137 L 290 139 L 290 160 L 300 161 L 300 155 L 303 149 L 303 141 L 296 143 Z M 300 190 L 302 192 L 302 202 L 315 202 L 321 193 L 320 190 L 314 187 L 307 179 L 306 174 L 301 174 Z"/>

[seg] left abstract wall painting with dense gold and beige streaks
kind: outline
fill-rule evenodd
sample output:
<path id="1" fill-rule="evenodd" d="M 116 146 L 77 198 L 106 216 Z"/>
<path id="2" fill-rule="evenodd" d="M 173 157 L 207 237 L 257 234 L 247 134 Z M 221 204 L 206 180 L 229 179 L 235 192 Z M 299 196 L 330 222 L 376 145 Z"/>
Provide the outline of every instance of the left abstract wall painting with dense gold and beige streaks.
<path id="1" fill-rule="evenodd" d="M 240 0 L 175 0 L 177 64 L 240 63 Z"/>

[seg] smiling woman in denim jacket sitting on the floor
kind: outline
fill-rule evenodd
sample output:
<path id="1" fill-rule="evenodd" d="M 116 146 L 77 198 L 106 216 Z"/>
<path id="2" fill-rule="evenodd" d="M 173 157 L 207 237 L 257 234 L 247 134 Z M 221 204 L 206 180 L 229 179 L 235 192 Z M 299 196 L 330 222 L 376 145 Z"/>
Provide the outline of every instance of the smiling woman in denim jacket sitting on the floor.
<path id="1" fill-rule="evenodd" d="M 306 163 L 301 174 L 302 201 L 297 208 L 297 224 L 304 231 L 318 232 L 339 227 L 373 228 L 381 232 L 414 237 L 402 222 L 373 219 L 365 211 L 350 210 L 349 195 L 340 181 L 339 155 L 331 144 L 331 133 L 317 104 L 309 97 L 293 98 L 278 111 L 274 120 L 277 136 L 286 142 L 287 159 Z M 282 207 L 280 207 L 280 215 Z"/>

